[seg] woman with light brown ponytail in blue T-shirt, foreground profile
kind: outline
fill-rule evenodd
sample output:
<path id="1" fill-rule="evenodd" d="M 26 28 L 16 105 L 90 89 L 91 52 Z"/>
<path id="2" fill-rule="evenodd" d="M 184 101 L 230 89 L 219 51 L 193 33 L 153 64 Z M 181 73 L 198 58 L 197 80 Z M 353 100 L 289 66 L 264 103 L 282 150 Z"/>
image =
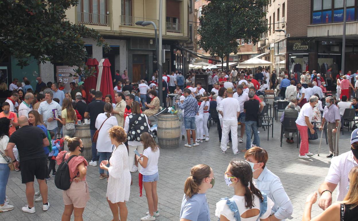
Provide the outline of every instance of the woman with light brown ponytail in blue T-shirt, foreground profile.
<path id="1" fill-rule="evenodd" d="M 180 221 L 210 221 L 205 193 L 213 188 L 214 183 L 214 172 L 208 165 L 198 164 L 192 167 L 184 184 Z"/>

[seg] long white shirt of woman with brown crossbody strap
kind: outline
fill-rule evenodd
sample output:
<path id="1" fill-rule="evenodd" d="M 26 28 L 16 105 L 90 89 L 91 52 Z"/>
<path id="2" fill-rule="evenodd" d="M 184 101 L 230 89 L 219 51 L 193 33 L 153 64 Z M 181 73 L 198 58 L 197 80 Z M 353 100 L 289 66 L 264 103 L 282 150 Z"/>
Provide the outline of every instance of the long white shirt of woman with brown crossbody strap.
<path id="1" fill-rule="evenodd" d="M 107 112 L 98 114 L 95 124 L 97 130 L 100 129 L 103 122 L 107 119 L 106 114 Z M 100 133 L 98 133 L 97 144 L 100 144 L 100 145 L 96 145 L 98 152 L 112 152 L 113 145 L 111 143 L 110 137 L 108 136 L 108 131 L 113 126 L 118 126 L 117 118 L 115 116 L 110 116 L 103 124 Z"/>

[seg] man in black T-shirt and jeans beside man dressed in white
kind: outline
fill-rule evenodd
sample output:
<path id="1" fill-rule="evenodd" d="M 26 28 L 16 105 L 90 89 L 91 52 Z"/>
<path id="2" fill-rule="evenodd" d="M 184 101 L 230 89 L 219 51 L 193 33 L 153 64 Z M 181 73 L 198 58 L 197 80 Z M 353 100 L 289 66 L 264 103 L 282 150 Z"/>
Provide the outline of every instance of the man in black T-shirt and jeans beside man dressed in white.
<path id="1" fill-rule="evenodd" d="M 254 98 L 254 96 L 255 96 L 255 92 L 253 91 L 248 92 L 249 100 L 244 102 L 246 149 L 241 150 L 241 152 L 246 152 L 248 149 L 251 148 L 252 132 L 253 132 L 252 145 L 260 146 L 260 138 L 258 137 L 258 133 L 257 133 L 258 111 L 260 110 L 260 104 Z"/>

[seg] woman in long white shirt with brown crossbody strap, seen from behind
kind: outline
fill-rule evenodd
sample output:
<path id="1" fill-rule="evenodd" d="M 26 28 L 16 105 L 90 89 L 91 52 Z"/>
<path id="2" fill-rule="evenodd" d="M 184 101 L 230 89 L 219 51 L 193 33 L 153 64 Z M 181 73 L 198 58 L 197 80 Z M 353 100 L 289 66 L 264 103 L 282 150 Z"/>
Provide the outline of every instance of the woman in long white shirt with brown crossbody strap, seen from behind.
<path id="1" fill-rule="evenodd" d="M 97 152 L 100 155 L 98 162 L 110 159 L 113 145 L 111 143 L 111 139 L 108 136 L 108 131 L 113 126 L 118 126 L 117 118 L 111 115 L 113 111 L 113 106 L 111 103 L 105 104 L 104 111 L 104 113 L 98 114 L 95 124 L 96 129 L 100 131 L 98 133 L 96 145 Z M 99 167 L 98 170 L 100 172 L 100 179 L 106 179 L 108 177 L 108 173 L 105 174 L 103 169 Z"/>

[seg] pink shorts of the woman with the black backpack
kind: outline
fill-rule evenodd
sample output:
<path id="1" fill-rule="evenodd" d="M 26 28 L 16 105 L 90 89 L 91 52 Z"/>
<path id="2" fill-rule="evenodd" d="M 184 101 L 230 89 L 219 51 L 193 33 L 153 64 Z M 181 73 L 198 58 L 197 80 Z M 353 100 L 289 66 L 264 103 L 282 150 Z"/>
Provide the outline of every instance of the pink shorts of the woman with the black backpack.
<path id="1" fill-rule="evenodd" d="M 89 191 L 86 181 L 72 182 L 69 189 L 62 192 L 63 203 L 73 204 L 75 208 L 84 208 L 89 200 Z"/>

